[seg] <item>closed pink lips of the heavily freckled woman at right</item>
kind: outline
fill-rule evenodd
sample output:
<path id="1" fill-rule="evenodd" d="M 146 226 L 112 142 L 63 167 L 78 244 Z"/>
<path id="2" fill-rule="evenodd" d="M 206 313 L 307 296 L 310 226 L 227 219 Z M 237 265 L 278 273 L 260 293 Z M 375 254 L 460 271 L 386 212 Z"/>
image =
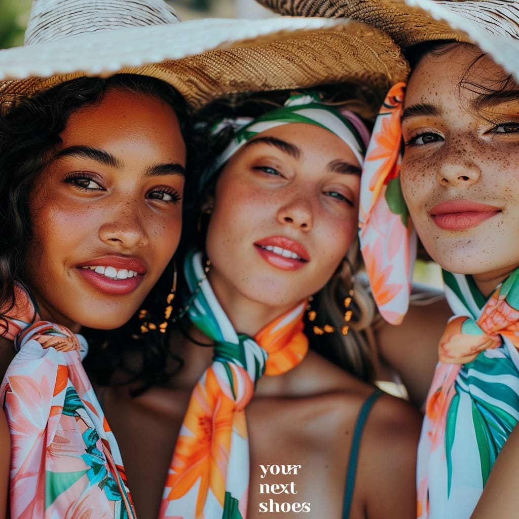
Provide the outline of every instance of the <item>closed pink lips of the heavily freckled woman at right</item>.
<path id="1" fill-rule="evenodd" d="M 498 207 L 470 200 L 448 200 L 429 210 L 434 223 L 446 230 L 476 227 L 499 212 Z"/>

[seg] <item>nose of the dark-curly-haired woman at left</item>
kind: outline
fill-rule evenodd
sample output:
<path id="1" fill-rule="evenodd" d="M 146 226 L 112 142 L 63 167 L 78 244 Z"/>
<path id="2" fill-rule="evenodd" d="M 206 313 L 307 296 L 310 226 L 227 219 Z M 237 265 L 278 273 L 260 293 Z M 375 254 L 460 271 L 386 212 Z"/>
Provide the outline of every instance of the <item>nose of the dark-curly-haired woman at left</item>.
<path id="1" fill-rule="evenodd" d="M 101 241 L 121 249 L 144 247 L 148 243 L 137 204 L 136 200 L 120 204 L 106 215 L 98 231 Z"/>

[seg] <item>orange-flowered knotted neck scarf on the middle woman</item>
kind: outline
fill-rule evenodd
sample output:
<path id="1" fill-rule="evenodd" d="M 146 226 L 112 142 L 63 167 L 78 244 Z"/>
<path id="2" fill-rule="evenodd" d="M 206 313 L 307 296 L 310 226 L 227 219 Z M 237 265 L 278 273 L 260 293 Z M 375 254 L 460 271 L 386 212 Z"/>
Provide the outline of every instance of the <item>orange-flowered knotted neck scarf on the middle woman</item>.
<path id="1" fill-rule="evenodd" d="M 161 517 L 241 519 L 247 514 L 249 487 L 244 408 L 264 373 L 285 373 L 305 357 L 306 302 L 268 324 L 254 338 L 238 334 L 204 275 L 201 256 L 200 252 L 189 254 L 184 265 L 189 289 L 196 294 L 189 317 L 213 340 L 214 357 L 188 404 Z"/>

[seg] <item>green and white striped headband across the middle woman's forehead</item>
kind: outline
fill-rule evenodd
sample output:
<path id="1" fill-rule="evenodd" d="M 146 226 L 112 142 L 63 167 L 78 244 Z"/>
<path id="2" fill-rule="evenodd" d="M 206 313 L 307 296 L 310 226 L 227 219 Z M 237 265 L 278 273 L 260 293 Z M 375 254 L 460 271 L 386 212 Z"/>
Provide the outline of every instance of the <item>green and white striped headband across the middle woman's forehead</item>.
<path id="1" fill-rule="evenodd" d="M 291 95 L 281 108 L 276 108 L 260 117 L 239 117 L 224 119 L 215 125 L 212 134 L 216 135 L 224 128 L 233 128 L 234 137 L 220 156 L 216 157 L 209 171 L 203 175 L 208 178 L 220 169 L 246 142 L 258 133 L 282 125 L 304 122 L 331 131 L 342 139 L 354 153 L 362 167 L 370 138 L 361 119 L 348 110 L 337 110 L 321 102 L 318 92 L 304 92 Z"/>

